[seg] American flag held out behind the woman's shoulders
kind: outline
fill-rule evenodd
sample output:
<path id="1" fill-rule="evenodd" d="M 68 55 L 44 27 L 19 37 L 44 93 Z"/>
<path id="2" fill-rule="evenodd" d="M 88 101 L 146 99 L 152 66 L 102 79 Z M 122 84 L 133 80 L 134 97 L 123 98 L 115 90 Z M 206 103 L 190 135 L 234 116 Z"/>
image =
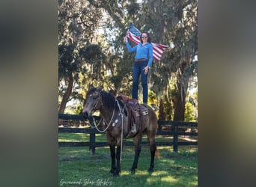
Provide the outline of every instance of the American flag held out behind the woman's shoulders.
<path id="1" fill-rule="evenodd" d="M 141 43 L 141 31 L 138 31 L 138 28 L 135 28 L 132 23 L 129 24 L 129 29 L 127 31 L 127 37 L 129 40 L 132 40 L 136 45 L 138 43 Z M 155 61 L 160 61 L 162 57 L 162 53 L 164 52 L 165 48 L 168 48 L 168 46 L 159 44 L 159 43 L 151 43 L 153 46 L 153 59 Z"/>

